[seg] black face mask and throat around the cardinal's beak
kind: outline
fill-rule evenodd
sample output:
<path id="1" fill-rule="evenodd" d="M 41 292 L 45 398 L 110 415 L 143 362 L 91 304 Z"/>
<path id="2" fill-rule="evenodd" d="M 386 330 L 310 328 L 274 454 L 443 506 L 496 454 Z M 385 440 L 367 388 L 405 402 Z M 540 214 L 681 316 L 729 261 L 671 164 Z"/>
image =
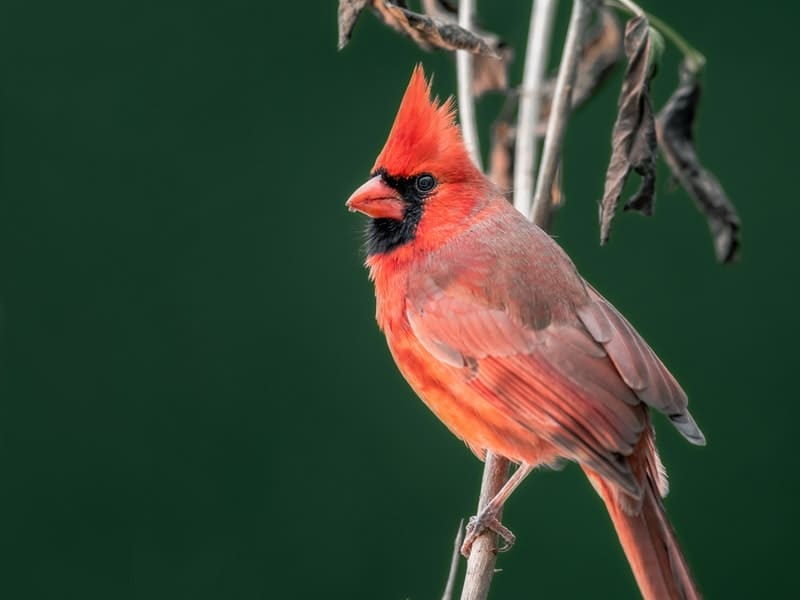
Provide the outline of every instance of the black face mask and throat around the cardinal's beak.
<path id="1" fill-rule="evenodd" d="M 405 202 L 403 220 L 395 219 L 370 219 L 367 222 L 366 250 L 367 256 L 385 254 L 398 246 L 407 244 L 414 239 L 417 225 L 422 218 L 424 196 L 414 185 L 416 177 L 393 177 L 384 169 L 378 169 L 372 174 L 380 175 L 384 183 L 397 191 Z"/>

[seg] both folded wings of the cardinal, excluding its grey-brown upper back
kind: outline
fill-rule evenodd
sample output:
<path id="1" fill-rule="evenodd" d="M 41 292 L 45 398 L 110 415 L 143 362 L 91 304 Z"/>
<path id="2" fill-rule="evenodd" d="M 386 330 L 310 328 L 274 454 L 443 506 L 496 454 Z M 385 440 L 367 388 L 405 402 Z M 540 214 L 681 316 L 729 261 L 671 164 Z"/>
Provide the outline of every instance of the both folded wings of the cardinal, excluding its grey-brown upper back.
<path id="1" fill-rule="evenodd" d="M 666 412 L 690 441 L 703 440 L 677 381 L 588 285 L 569 319 L 563 307 L 519 308 L 515 299 L 491 303 L 463 283 L 419 277 L 406 317 L 422 346 L 460 370 L 466 385 L 508 419 L 634 498 L 641 482 L 625 457 L 649 426 L 645 405 Z M 559 318 L 537 327 L 521 318 L 526 313 Z"/>

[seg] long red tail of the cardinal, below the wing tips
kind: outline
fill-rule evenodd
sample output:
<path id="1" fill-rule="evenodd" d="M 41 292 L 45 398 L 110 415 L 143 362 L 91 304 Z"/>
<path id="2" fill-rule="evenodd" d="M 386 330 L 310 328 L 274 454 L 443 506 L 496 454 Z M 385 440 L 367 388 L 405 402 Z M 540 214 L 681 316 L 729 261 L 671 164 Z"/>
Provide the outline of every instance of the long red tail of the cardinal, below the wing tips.
<path id="1" fill-rule="evenodd" d="M 614 486 L 597 473 L 584 471 L 606 504 L 645 600 L 699 600 L 700 592 L 664 512 L 658 484 L 647 477 L 641 507 L 631 510 L 622 506 Z"/>

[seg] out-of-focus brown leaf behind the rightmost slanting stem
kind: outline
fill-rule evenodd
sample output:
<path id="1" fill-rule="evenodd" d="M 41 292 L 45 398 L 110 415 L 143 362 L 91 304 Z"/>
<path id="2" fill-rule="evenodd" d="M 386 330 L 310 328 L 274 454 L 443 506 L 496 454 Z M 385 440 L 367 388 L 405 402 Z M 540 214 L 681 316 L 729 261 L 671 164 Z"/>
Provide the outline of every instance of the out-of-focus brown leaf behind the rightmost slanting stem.
<path id="1" fill-rule="evenodd" d="M 570 102 L 573 110 L 592 97 L 622 57 L 622 26 L 619 20 L 609 10 L 602 9 L 598 13 L 598 23 L 586 32 L 575 73 L 575 86 Z M 541 116 L 536 127 L 536 135 L 539 137 L 544 137 L 547 131 L 555 87 L 556 76 L 553 75 L 543 86 Z"/>

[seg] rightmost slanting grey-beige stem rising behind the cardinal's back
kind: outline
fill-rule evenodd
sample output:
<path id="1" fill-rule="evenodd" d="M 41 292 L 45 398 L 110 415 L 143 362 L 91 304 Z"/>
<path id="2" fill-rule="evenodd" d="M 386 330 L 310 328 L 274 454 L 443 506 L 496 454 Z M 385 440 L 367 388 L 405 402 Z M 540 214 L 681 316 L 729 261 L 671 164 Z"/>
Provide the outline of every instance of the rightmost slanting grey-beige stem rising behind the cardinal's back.
<path id="1" fill-rule="evenodd" d="M 592 14 L 592 4 L 592 0 L 574 0 L 572 3 L 567 39 L 561 54 L 561 66 L 558 69 L 550 119 L 547 122 L 542 162 L 539 165 L 539 176 L 536 178 L 536 193 L 533 195 L 531 219 L 540 227 L 548 224 L 552 211 L 551 191 L 558 164 L 561 162 L 561 148 L 564 145 L 564 133 L 569 119 L 572 88 L 578 71 L 583 35 L 589 23 L 589 16 Z"/>

